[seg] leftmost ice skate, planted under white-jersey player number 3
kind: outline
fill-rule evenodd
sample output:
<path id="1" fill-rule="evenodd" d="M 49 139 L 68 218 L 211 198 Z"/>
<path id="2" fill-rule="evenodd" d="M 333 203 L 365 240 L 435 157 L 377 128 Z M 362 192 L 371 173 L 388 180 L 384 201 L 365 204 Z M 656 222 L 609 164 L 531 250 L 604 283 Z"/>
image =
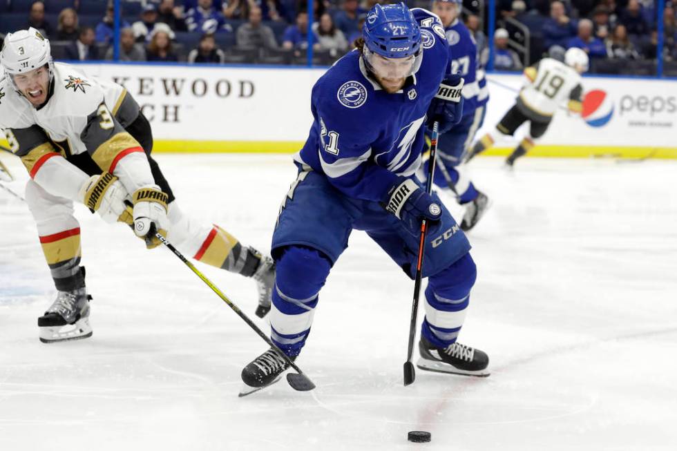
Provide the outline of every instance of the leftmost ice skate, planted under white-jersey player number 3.
<path id="1" fill-rule="evenodd" d="M 37 318 L 42 343 L 80 340 L 92 336 L 89 325 L 89 301 L 86 289 L 58 291 L 57 299 L 43 316 Z"/>

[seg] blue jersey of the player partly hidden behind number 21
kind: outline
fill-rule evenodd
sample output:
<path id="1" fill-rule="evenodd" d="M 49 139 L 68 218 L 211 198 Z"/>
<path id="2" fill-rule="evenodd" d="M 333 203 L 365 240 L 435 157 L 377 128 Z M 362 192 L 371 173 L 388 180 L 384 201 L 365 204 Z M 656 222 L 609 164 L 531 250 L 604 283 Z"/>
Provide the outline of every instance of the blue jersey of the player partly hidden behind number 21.
<path id="1" fill-rule="evenodd" d="M 463 22 L 456 19 L 444 30 L 449 44 L 448 74 L 461 73 L 463 85 L 463 115 L 475 114 L 479 106 L 480 86 L 477 78 L 479 59 L 477 45 L 470 35 L 470 30 Z M 487 93 L 488 94 L 488 93 Z M 486 103 L 486 102 L 484 102 Z"/>

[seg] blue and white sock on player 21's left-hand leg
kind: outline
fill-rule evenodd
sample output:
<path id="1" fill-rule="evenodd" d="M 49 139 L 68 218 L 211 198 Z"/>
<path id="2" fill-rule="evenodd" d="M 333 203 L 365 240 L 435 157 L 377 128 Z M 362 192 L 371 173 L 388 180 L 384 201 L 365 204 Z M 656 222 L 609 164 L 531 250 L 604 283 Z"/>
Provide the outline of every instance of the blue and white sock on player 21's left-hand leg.
<path id="1" fill-rule="evenodd" d="M 270 311 L 271 340 L 287 356 L 297 356 L 312 326 L 318 293 L 332 265 L 316 249 L 292 246 L 276 262 Z"/>

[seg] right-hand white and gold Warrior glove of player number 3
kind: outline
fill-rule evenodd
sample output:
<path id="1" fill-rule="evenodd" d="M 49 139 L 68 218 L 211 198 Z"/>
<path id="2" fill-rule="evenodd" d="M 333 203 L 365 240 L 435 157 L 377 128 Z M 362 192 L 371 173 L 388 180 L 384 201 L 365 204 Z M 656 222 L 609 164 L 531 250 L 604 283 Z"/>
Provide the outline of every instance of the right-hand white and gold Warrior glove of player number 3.
<path id="1" fill-rule="evenodd" d="M 157 185 L 137 189 L 132 195 L 134 205 L 134 233 L 146 241 L 146 248 L 153 249 L 160 245 L 155 236 L 158 232 L 167 236 L 169 219 L 167 218 L 167 195 Z"/>

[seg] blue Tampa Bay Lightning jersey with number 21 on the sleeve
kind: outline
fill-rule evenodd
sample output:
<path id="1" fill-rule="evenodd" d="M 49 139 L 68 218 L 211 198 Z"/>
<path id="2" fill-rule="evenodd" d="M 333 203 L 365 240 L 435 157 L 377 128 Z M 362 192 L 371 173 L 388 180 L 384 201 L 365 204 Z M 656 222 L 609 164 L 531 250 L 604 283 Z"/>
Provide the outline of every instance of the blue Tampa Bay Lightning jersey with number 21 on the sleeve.
<path id="1" fill-rule="evenodd" d="M 421 26 L 423 61 L 403 88 L 386 93 L 364 66 L 359 50 L 336 61 L 313 86 L 314 122 L 294 160 L 327 176 L 347 196 L 380 201 L 398 176 L 421 164 L 424 122 L 448 66 L 439 18 L 412 8 Z"/>

